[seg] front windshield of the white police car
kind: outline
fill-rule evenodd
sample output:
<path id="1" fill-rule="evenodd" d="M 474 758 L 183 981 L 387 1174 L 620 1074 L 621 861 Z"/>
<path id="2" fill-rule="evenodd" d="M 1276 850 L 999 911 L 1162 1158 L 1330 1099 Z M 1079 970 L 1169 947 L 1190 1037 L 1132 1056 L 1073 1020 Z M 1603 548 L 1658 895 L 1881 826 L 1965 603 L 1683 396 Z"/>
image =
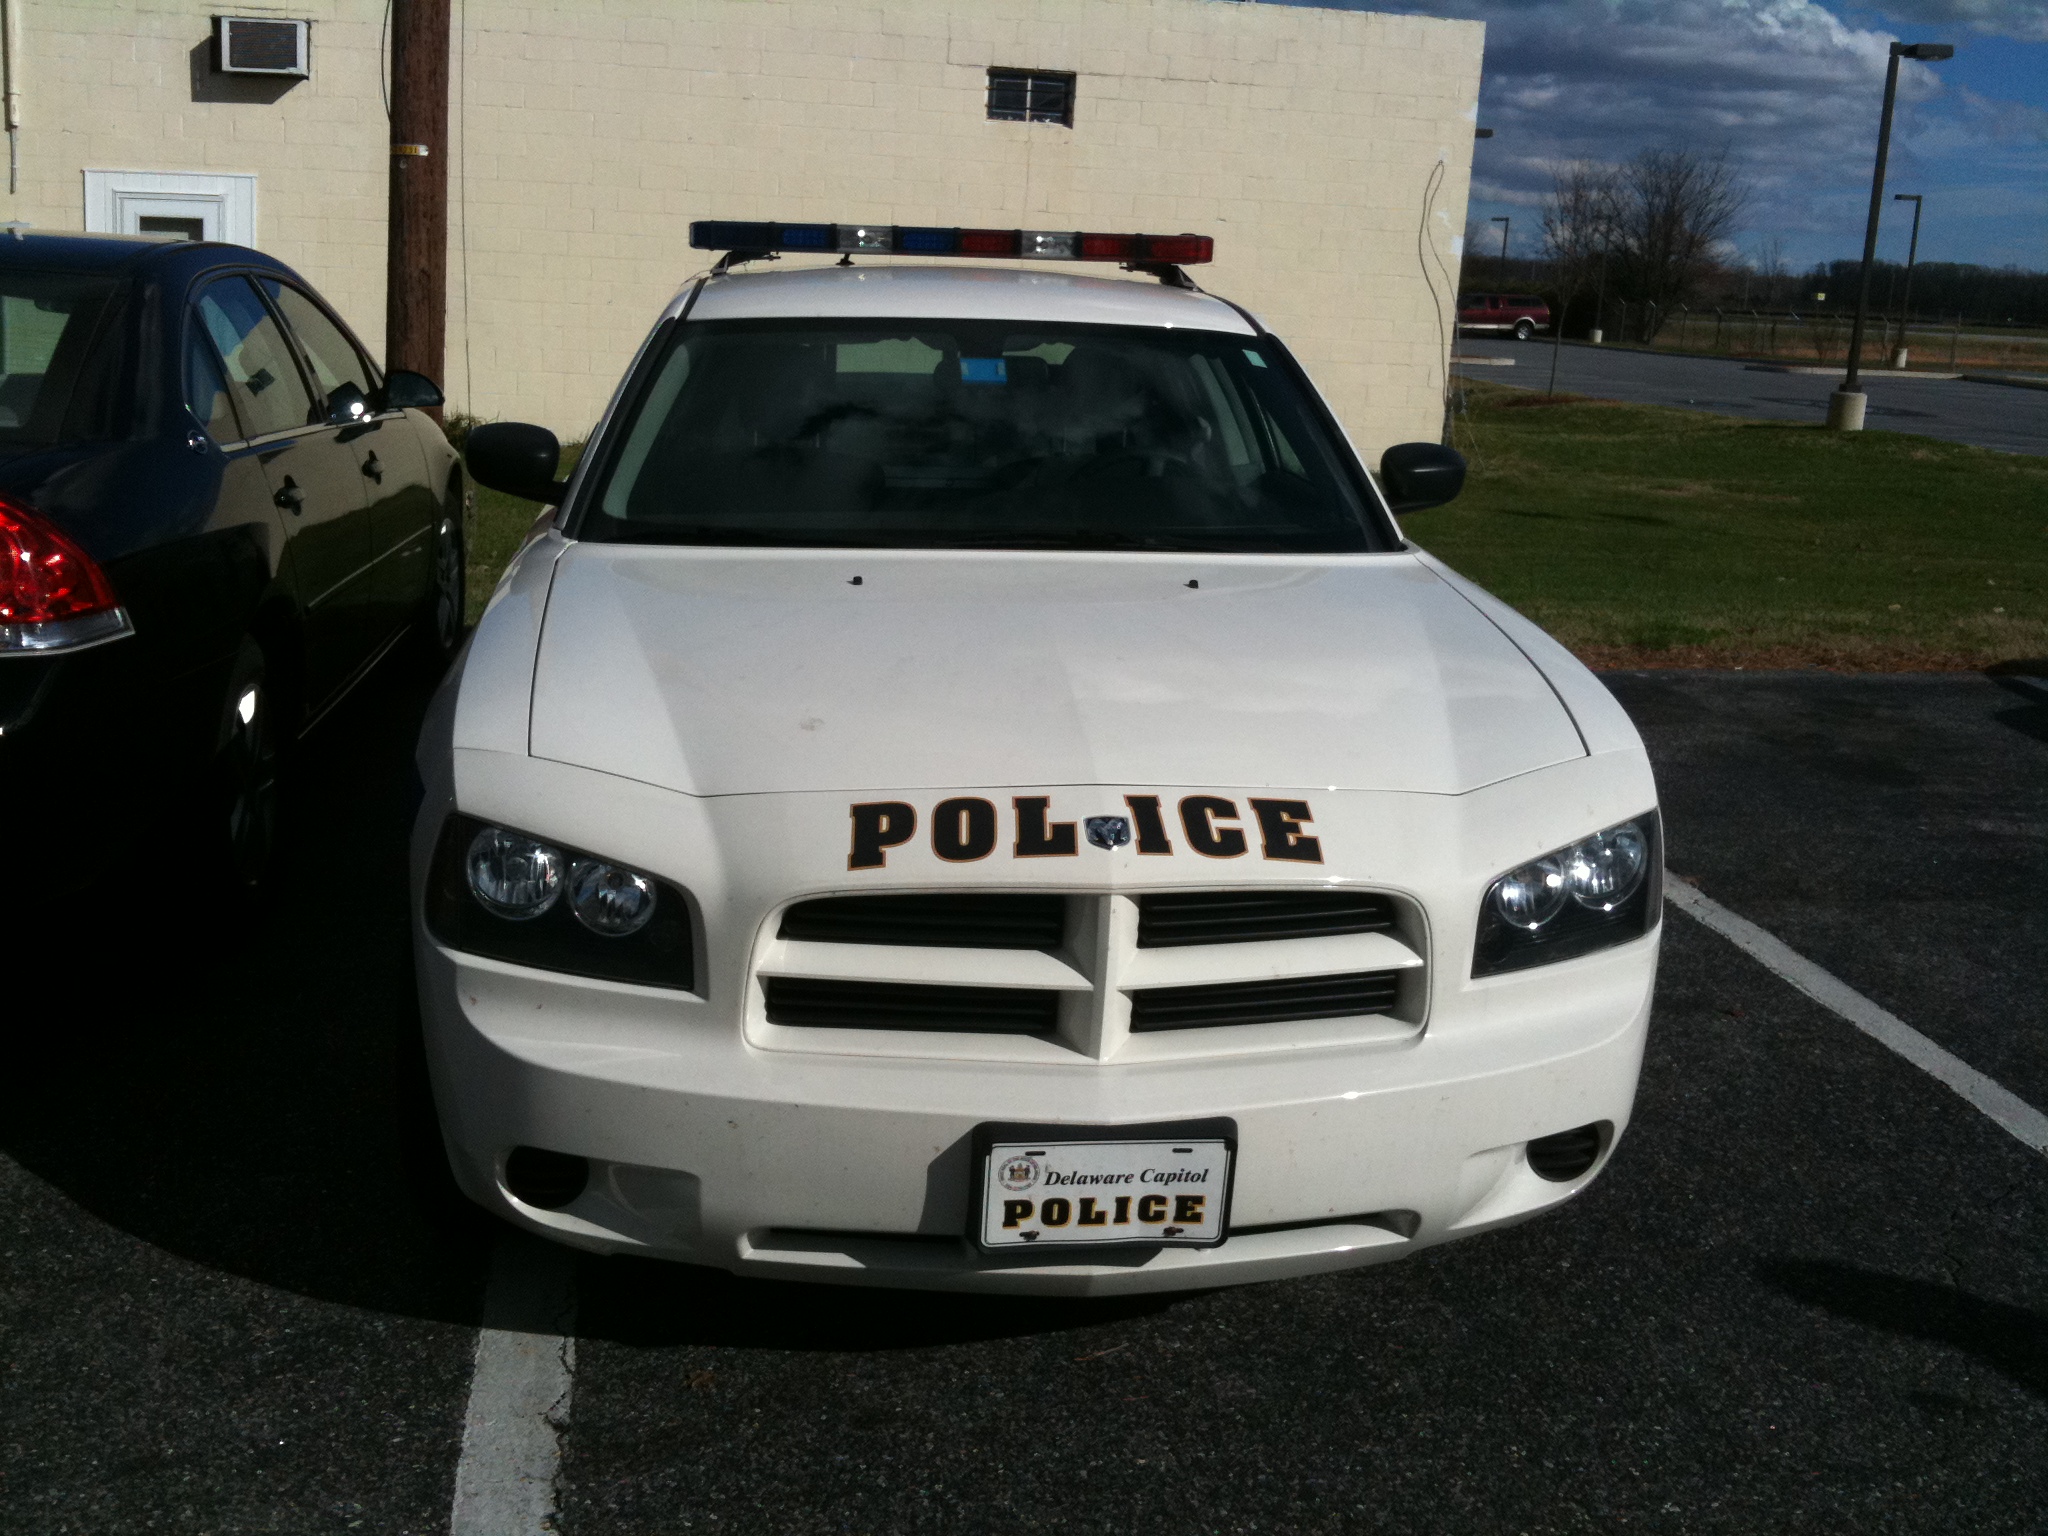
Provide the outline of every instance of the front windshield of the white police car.
<path id="1" fill-rule="evenodd" d="M 575 528 L 899 549 L 1391 547 L 1266 338 L 1014 322 L 674 328 Z"/>

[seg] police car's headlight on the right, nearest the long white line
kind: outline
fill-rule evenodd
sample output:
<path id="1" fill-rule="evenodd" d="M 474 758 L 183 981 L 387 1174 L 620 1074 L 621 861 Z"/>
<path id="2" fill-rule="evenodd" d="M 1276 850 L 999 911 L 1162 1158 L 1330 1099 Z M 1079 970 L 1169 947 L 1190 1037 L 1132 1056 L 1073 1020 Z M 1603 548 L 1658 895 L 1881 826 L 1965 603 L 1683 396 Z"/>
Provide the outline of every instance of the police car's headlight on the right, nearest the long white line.
<path id="1" fill-rule="evenodd" d="M 1663 840 L 1655 811 L 1532 858 L 1487 887 L 1473 975 L 1569 961 L 1657 926 Z"/>

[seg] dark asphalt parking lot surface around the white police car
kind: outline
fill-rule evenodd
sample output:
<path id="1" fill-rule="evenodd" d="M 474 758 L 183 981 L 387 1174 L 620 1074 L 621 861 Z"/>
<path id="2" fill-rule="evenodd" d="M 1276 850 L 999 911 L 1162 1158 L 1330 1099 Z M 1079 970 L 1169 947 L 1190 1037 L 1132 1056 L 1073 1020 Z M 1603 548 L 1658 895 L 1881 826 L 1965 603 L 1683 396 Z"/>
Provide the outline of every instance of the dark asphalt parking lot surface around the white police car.
<path id="1" fill-rule="evenodd" d="M 2048 1106 L 2042 694 L 1610 682 L 1677 874 Z M 262 907 L 137 854 L 18 940 L 8 1530 L 449 1528 L 485 1251 L 401 1137 L 422 702 L 385 682 L 322 727 Z M 1628 1141 L 1509 1233 L 1112 1305 L 616 1260 L 575 1290 L 571 1536 L 2048 1518 L 2048 1159 L 1675 913 Z"/>

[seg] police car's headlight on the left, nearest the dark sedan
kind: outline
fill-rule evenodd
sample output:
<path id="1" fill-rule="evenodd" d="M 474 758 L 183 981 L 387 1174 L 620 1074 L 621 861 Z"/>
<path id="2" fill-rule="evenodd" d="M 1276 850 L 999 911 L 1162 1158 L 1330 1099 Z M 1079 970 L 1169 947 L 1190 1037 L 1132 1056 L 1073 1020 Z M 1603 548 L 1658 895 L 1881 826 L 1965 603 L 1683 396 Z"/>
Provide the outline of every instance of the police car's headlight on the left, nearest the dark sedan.
<path id="1" fill-rule="evenodd" d="M 434 844 L 426 930 L 451 950 L 539 971 L 694 987 L 682 891 L 467 815 L 451 815 Z"/>

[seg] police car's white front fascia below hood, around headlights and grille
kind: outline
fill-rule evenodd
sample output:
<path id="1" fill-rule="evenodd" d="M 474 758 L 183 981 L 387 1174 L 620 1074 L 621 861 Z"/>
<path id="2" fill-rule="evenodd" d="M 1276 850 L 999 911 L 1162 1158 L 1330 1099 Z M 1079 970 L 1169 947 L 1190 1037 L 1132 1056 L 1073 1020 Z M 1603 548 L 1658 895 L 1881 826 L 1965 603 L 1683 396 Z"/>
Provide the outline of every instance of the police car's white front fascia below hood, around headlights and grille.
<path id="1" fill-rule="evenodd" d="M 1087 864 L 936 868 L 907 846 L 887 870 L 850 874 L 844 795 L 707 801 L 485 750 L 422 752 L 422 766 L 414 932 L 451 1165 L 473 1200 L 575 1247 L 936 1290 L 1186 1290 L 1386 1262 L 1524 1221 L 1597 1178 L 1628 1126 L 1661 930 L 1509 975 L 1473 979 L 1470 965 L 1479 899 L 1499 870 L 1655 803 L 1634 748 L 1456 797 L 1319 795 L 1331 862 L 1317 883 L 1389 891 L 1419 915 L 1405 938 L 1425 958 L 1425 993 L 1403 993 L 1413 1008 L 1399 1028 L 1262 1026 L 1270 1044 L 1249 1038 L 1257 1030 L 1182 1030 L 1143 1049 L 764 1028 L 760 967 L 776 911 L 797 897 L 1300 885 L 1292 866 L 1149 860 L 1124 846 L 1090 850 Z M 1053 791 L 1061 813 L 1120 793 Z M 438 944 L 420 893 L 457 809 L 682 887 L 702 961 L 694 991 Z M 1063 1262 L 991 1257 L 965 1239 L 981 1122 L 1212 1116 L 1237 1122 L 1221 1247 Z M 1602 1155 L 1583 1176 L 1550 1182 L 1530 1167 L 1530 1141 L 1587 1124 L 1602 1126 Z M 590 1159 L 586 1190 L 561 1208 L 514 1198 L 504 1174 L 516 1147 Z"/>

